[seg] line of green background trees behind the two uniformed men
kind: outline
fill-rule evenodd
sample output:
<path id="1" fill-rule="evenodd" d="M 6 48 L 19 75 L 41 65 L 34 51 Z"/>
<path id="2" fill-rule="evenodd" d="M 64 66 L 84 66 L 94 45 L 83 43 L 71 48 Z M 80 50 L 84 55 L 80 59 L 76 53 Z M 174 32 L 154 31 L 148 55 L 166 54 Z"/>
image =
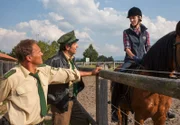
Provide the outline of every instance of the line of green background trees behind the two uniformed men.
<path id="1" fill-rule="evenodd" d="M 48 58 L 54 56 L 58 50 L 59 50 L 59 44 L 57 41 L 53 42 L 45 42 L 39 40 L 38 43 L 39 47 L 41 48 L 41 51 L 43 52 L 43 61 L 47 60 Z M 16 58 L 15 55 L 15 48 L 12 49 L 10 53 L 5 53 L 2 50 L 0 50 L 1 53 L 8 54 L 14 58 Z M 113 57 L 106 57 L 105 55 L 99 55 L 98 52 L 94 49 L 93 45 L 90 44 L 87 49 L 83 52 L 83 58 L 77 59 L 76 61 L 79 62 L 85 62 L 86 58 L 89 58 L 91 62 L 107 62 L 107 61 L 114 61 Z"/>

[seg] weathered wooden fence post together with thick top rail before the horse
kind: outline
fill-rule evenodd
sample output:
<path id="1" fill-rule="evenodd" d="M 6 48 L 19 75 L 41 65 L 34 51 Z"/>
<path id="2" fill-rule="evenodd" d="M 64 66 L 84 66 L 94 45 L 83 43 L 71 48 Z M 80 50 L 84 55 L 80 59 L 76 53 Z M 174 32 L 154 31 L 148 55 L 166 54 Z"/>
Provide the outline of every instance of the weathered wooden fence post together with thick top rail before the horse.
<path id="1" fill-rule="evenodd" d="M 108 125 L 108 80 L 180 99 L 180 79 L 159 78 L 108 70 L 101 70 L 99 76 L 104 80 L 100 77 L 97 77 L 96 80 L 96 122 L 98 125 Z"/>

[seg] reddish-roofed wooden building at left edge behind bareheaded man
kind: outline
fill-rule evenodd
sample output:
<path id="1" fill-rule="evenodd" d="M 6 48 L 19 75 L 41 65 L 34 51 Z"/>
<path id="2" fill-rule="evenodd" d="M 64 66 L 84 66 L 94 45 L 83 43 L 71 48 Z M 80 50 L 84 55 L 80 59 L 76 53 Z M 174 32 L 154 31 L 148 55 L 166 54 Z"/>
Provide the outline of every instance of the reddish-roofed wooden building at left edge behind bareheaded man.
<path id="1" fill-rule="evenodd" d="M 16 65 L 17 59 L 4 53 L 0 53 L 0 77 Z"/>

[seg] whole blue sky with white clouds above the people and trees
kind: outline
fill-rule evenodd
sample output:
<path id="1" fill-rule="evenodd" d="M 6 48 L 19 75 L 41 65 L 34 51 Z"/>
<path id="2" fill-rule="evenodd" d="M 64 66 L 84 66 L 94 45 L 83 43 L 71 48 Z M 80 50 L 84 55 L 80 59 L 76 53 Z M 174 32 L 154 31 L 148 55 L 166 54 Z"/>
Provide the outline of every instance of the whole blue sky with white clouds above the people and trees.
<path id="1" fill-rule="evenodd" d="M 127 12 L 139 7 L 151 45 L 175 30 L 179 0 L 0 0 L 0 50 L 9 53 L 23 39 L 52 42 L 75 31 L 76 57 L 90 44 L 99 55 L 123 59 Z"/>

